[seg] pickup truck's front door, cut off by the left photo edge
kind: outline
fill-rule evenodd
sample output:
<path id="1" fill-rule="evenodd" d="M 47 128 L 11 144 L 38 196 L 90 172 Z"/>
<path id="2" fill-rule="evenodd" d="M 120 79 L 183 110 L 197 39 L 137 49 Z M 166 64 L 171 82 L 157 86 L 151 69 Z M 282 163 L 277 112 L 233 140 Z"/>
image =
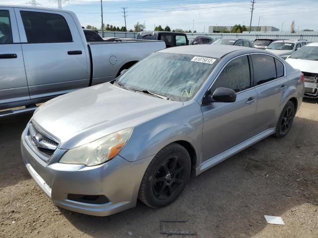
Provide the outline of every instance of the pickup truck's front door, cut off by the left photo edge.
<path id="1" fill-rule="evenodd" d="M 0 7 L 0 105 L 30 99 L 14 10 Z"/>

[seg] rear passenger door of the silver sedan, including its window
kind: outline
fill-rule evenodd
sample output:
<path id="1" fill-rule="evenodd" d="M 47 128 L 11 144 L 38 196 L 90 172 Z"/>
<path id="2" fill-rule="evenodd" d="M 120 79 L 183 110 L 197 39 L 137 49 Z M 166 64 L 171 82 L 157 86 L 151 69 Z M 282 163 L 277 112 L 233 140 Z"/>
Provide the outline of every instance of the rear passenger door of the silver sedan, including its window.
<path id="1" fill-rule="evenodd" d="M 251 54 L 251 59 L 257 91 L 256 121 L 258 131 L 262 131 L 276 126 L 283 94 L 290 82 L 281 60 L 266 54 Z"/>

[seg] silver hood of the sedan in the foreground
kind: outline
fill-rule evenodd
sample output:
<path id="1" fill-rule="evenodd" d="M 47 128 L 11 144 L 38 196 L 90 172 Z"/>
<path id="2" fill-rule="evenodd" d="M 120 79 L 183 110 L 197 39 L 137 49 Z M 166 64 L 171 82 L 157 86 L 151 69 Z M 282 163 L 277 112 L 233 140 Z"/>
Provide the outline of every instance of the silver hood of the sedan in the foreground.
<path id="1" fill-rule="evenodd" d="M 70 149 L 182 105 L 104 83 L 53 99 L 32 120 L 59 139 L 61 149 Z"/>

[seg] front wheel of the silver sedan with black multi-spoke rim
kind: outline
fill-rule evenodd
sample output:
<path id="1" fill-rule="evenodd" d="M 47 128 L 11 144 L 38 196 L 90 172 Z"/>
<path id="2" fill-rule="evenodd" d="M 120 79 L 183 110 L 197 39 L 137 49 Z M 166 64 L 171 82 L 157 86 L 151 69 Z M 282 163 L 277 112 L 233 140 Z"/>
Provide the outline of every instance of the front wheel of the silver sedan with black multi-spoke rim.
<path id="1" fill-rule="evenodd" d="M 167 145 L 149 164 L 138 198 L 149 207 L 164 207 L 182 193 L 190 174 L 191 160 L 187 150 L 177 143 Z"/>

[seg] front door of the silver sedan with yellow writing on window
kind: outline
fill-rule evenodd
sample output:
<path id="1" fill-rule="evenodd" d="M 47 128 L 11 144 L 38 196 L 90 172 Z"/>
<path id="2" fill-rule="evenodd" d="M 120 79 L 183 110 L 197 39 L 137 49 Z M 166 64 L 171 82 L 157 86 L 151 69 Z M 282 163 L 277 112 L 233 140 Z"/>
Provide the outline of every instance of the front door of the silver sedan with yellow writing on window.
<path id="1" fill-rule="evenodd" d="M 252 87 L 250 60 L 247 55 L 232 59 L 211 87 L 237 92 L 234 103 L 213 102 L 201 106 L 203 113 L 203 161 L 235 146 L 257 133 L 257 92 Z"/>

